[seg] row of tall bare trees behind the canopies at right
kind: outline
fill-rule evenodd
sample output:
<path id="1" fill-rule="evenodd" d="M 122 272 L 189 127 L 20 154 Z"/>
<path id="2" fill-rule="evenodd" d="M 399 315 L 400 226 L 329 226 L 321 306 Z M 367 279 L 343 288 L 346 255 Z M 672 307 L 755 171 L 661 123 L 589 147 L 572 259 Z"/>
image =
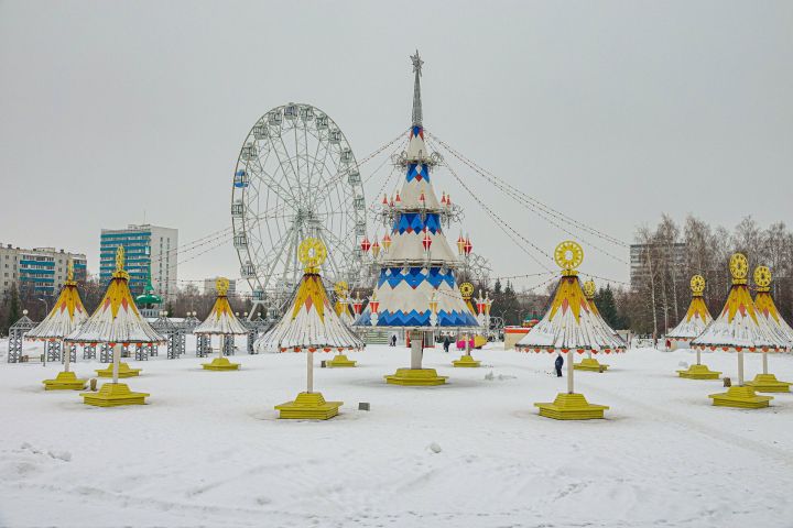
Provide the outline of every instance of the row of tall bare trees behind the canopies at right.
<path id="1" fill-rule="evenodd" d="M 634 331 L 661 336 L 676 326 L 691 300 L 691 277 L 697 274 L 706 280 L 708 309 L 718 314 L 731 284 L 729 258 L 736 252 L 749 260 L 750 284 L 756 266 L 771 268 L 776 306 L 786 319 L 793 316 L 793 232 L 783 222 L 762 228 L 746 217 L 729 231 L 694 216 L 678 224 L 663 215 L 654 228 L 637 229 L 636 243 L 631 265 L 640 273 L 632 273 L 630 290 L 617 295 Z"/>

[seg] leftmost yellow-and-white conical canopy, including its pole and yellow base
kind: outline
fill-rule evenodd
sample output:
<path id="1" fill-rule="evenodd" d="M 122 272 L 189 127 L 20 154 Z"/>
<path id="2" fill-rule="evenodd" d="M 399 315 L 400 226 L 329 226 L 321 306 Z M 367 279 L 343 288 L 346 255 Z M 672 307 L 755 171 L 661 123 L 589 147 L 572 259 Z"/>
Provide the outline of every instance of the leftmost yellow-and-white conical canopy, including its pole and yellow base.
<path id="1" fill-rule="evenodd" d="M 58 372 L 55 380 L 44 380 L 46 391 L 82 391 L 86 381 L 78 380 L 69 371 L 72 350 L 74 345 L 66 346 L 63 340 L 83 324 L 88 315 L 79 298 L 77 283 L 74 279 L 74 264 L 69 261 L 66 268 L 66 282 L 55 301 L 52 311 L 34 329 L 25 334 L 25 339 L 44 342 L 57 342 L 64 359 L 64 370 Z"/>

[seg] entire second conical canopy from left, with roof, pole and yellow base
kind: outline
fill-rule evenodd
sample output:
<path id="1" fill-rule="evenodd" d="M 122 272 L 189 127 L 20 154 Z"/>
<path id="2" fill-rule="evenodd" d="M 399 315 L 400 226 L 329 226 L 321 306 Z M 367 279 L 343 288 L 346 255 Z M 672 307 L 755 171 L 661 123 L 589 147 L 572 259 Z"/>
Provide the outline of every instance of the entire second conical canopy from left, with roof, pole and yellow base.
<path id="1" fill-rule="evenodd" d="M 116 251 L 116 272 L 96 311 L 64 342 L 83 346 L 107 343 L 113 349 L 112 365 L 97 371 L 101 377 L 112 376 L 112 383 L 106 383 L 97 393 L 80 393 L 86 405 L 116 407 L 145 403 L 149 394 L 130 392 L 126 383 L 118 383 L 119 377 L 140 374 L 140 369 L 130 369 L 121 362 L 121 348 L 164 344 L 166 340 L 141 317 L 132 300 L 129 274 L 124 271 L 123 246 Z"/>

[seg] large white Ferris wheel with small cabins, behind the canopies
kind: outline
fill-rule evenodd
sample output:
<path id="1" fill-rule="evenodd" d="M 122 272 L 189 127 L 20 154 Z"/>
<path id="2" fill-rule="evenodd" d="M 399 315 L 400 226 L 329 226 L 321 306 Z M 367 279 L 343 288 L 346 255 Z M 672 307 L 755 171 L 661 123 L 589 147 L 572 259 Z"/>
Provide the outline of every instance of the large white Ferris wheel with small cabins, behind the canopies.
<path id="1" fill-rule="evenodd" d="M 231 195 L 240 276 L 254 301 L 283 304 L 303 275 L 297 249 L 309 237 L 328 250 L 327 284 L 358 284 L 363 186 L 347 139 L 325 112 L 290 102 L 263 114 L 242 143 Z"/>

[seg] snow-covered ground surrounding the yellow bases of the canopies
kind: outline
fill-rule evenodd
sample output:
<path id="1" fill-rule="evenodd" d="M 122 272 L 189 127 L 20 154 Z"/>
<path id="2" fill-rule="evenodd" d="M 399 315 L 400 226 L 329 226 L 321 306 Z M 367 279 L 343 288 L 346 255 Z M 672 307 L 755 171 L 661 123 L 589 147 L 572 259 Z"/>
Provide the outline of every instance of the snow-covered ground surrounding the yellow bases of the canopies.
<path id="1" fill-rule="evenodd" d="M 414 388 L 382 381 L 406 349 L 370 346 L 351 354 L 357 369 L 315 370 L 343 414 L 295 422 L 273 405 L 304 388 L 302 354 L 238 355 L 240 372 L 202 371 L 192 352 L 132 362 L 143 374 L 130 387 L 150 405 L 94 408 L 42 389 L 58 365 L 8 364 L 6 350 L 0 526 L 793 526 L 793 395 L 713 407 L 720 381 L 675 375 L 687 351 L 636 349 L 609 356 L 608 373 L 576 373 L 611 410 L 561 422 L 532 406 L 566 386 L 548 354 L 496 345 L 475 354 L 487 367 L 464 370 L 449 365 L 457 353 L 427 350 L 450 383 Z M 734 355 L 704 361 L 736 375 Z M 760 364 L 748 354 L 749 377 Z M 770 365 L 793 380 L 793 358 Z"/>

